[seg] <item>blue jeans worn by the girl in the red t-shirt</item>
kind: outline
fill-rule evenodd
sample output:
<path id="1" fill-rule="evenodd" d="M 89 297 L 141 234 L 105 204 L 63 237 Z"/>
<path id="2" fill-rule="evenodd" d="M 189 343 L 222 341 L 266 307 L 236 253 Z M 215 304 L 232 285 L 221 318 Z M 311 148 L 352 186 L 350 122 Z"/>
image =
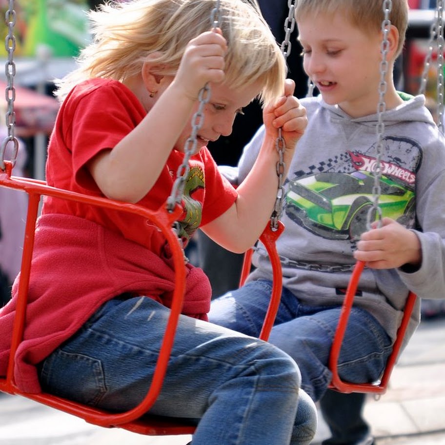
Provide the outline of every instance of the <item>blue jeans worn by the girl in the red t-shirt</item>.
<path id="1" fill-rule="evenodd" d="M 105 303 L 40 364 L 43 389 L 108 410 L 136 406 L 148 390 L 168 315 L 145 297 Z M 316 408 L 299 386 L 298 367 L 276 346 L 181 316 L 150 412 L 196 421 L 193 445 L 309 444 Z"/>

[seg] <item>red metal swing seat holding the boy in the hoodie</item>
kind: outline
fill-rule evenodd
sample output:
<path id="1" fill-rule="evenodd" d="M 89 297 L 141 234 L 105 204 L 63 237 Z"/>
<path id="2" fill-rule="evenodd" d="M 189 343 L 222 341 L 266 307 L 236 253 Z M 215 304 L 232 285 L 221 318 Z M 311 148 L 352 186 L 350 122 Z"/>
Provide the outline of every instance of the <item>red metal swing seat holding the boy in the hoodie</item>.
<path id="1" fill-rule="evenodd" d="M 247 279 L 247 276 L 250 272 L 250 267 L 252 263 L 252 255 L 253 255 L 253 249 L 249 249 L 244 254 L 244 261 L 243 261 L 243 269 L 241 271 L 241 278 L 240 278 L 240 287 L 245 283 L 245 280 Z M 271 257 L 272 258 L 272 257 Z M 272 268 L 277 267 L 272 264 Z M 349 320 L 349 314 L 351 312 L 352 305 L 354 303 L 354 297 L 357 291 L 358 283 L 360 280 L 360 276 L 364 269 L 364 263 L 361 261 L 358 261 L 354 269 L 352 271 L 351 279 L 348 283 L 348 287 L 346 290 L 346 295 L 344 297 L 344 302 L 342 305 L 342 311 L 340 314 L 339 322 L 337 325 L 337 329 L 334 335 L 334 340 L 331 346 L 331 351 L 329 355 L 329 369 L 332 372 L 332 379 L 331 383 L 329 384 L 330 389 L 335 389 L 339 392 L 343 393 L 351 393 L 351 392 L 364 392 L 364 393 L 373 393 L 373 394 L 384 394 L 386 392 L 389 378 L 391 376 L 392 370 L 394 368 L 394 365 L 396 364 L 397 357 L 399 355 L 400 348 L 403 343 L 403 339 L 405 337 L 406 328 L 409 324 L 409 319 L 411 317 L 411 313 L 414 308 L 414 304 L 416 302 L 417 296 L 413 292 L 409 292 L 408 297 L 406 299 L 405 303 L 405 309 L 404 309 L 404 315 L 402 318 L 402 322 L 397 330 L 397 337 L 394 342 L 392 351 L 390 356 L 388 357 L 388 360 L 386 361 L 385 368 L 382 374 L 381 379 L 378 382 L 374 383 L 364 383 L 364 384 L 358 384 L 358 383 L 350 383 L 343 381 L 338 373 L 338 359 L 340 355 L 340 350 L 342 348 L 344 334 L 346 332 L 346 326 Z M 275 272 L 274 272 L 275 273 Z M 280 272 L 282 274 L 282 272 Z M 275 275 L 274 275 L 275 276 Z M 277 274 L 278 276 L 278 274 Z M 282 275 L 280 275 L 282 277 Z M 278 303 L 280 302 L 280 297 L 276 299 Z M 276 301 L 274 299 L 274 301 Z M 278 308 L 275 310 L 275 315 L 277 313 Z M 275 319 L 274 319 L 275 320 Z M 273 321 L 272 321 L 273 326 Z M 272 328 L 270 326 L 270 329 Z M 269 331 L 270 333 L 270 331 Z"/>

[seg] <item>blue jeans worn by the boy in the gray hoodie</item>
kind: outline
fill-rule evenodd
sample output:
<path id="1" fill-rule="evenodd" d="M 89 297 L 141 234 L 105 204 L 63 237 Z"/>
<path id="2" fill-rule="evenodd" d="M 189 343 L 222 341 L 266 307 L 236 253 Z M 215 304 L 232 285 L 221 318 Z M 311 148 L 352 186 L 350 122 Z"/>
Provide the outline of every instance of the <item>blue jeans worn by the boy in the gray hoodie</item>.
<path id="1" fill-rule="evenodd" d="M 209 319 L 230 329 L 258 336 L 270 300 L 272 282 L 252 281 L 212 301 Z M 269 342 L 298 364 L 301 387 L 317 401 L 331 381 L 329 352 L 340 315 L 339 306 L 307 306 L 288 289 L 282 299 Z M 348 382 L 373 382 L 391 352 L 391 339 L 367 311 L 351 310 L 339 358 L 339 375 Z"/>

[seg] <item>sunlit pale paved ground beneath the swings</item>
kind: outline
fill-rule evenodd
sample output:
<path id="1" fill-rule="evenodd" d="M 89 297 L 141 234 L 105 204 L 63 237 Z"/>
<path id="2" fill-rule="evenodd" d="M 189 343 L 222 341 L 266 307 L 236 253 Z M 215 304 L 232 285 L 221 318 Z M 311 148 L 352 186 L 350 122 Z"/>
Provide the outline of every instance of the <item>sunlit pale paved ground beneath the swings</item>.
<path id="1" fill-rule="evenodd" d="M 445 445 L 445 318 L 420 325 L 393 371 L 387 393 L 378 401 L 369 396 L 365 417 L 377 445 Z M 321 420 L 314 445 L 327 435 Z M 0 393 L 0 445 L 185 445 L 190 440 L 100 428 Z"/>

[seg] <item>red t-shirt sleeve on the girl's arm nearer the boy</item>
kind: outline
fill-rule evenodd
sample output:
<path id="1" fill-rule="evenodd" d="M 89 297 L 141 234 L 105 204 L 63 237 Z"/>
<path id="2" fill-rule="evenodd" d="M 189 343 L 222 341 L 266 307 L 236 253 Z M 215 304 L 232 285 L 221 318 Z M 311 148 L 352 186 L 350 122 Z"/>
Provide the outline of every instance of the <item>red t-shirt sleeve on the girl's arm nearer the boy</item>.
<path id="1" fill-rule="evenodd" d="M 236 201 L 238 193 L 221 175 L 207 148 L 204 147 L 201 152 L 205 165 L 205 195 L 201 224 L 205 225 L 221 216 Z"/>

